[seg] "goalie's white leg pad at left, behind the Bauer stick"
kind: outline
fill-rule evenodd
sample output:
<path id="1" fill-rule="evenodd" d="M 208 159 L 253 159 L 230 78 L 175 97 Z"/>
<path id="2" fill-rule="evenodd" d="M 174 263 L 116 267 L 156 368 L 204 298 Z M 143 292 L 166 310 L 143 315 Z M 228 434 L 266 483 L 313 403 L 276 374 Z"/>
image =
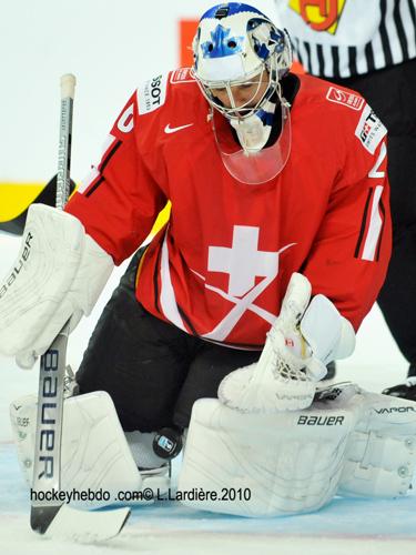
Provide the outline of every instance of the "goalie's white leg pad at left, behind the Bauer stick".
<path id="1" fill-rule="evenodd" d="M 14 401 L 10 406 L 10 417 L 19 462 L 27 483 L 31 485 L 37 397 L 27 395 Z M 156 470 L 143 473 L 138 470 L 134 455 L 140 453 L 140 432 L 134 434 L 129 434 L 130 443 L 134 444 L 131 450 L 114 404 L 105 392 L 64 401 L 61 490 L 73 492 L 71 505 L 98 507 L 114 503 L 152 502 L 151 496 L 143 497 L 140 492 L 146 487 L 158 493 L 168 490 L 170 477 L 166 466 L 152 460 Z M 146 452 L 145 445 L 143 451 Z M 81 492 L 87 492 L 88 496 Z M 88 498 L 80 500 L 81 495 Z"/>

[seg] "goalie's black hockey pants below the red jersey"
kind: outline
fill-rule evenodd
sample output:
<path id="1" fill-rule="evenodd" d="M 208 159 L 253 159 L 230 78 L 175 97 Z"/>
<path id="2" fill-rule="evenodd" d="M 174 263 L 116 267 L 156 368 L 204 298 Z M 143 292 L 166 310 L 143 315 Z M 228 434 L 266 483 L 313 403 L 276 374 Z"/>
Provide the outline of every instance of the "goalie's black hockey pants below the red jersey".
<path id="1" fill-rule="evenodd" d="M 80 393 L 106 391 L 126 432 L 186 427 L 193 403 L 216 397 L 221 380 L 261 352 L 207 343 L 149 314 L 134 295 L 138 261 L 139 254 L 90 339 L 77 373 Z"/>

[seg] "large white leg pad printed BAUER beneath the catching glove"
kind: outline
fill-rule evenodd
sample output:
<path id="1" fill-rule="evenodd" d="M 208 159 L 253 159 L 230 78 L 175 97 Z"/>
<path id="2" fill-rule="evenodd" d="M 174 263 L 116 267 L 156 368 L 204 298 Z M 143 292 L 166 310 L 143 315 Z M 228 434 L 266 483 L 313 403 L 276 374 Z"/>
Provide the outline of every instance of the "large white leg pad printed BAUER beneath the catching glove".
<path id="1" fill-rule="evenodd" d="M 354 424 L 349 407 L 319 404 L 296 413 L 243 414 L 217 400 L 200 400 L 179 477 L 181 501 L 243 516 L 315 511 L 338 487 Z M 194 488 L 204 498 L 186 498 Z M 234 498 L 221 501 L 230 488 Z"/>

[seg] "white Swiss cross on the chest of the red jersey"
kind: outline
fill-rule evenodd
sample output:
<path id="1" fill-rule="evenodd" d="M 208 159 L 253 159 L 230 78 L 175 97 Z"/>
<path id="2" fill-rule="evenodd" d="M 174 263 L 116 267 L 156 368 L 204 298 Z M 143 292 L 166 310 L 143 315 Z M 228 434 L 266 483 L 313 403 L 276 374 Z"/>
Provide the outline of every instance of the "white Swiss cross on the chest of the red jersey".
<path id="1" fill-rule="evenodd" d="M 242 296 L 255 285 L 255 279 L 277 274 L 278 252 L 258 250 L 260 228 L 234 225 L 233 244 L 210 246 L 210 272 L 230 274 L 229 294 Z"/>

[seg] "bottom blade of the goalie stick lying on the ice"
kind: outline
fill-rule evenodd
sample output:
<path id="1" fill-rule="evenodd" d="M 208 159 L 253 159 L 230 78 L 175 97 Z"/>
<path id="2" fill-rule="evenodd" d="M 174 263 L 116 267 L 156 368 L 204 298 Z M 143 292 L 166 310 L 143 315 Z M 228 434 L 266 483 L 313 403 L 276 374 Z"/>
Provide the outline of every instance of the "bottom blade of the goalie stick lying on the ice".
<path id="1" fill-rule="evenodd" d="M 116 536 L 123 529 L 130 516 L 130 508 L 122 507 L 113 511 L 79 511 L 69 505 L 62 505 L 55 511 L 55 516 L 45 525 L 40 524 L 40 517 L 45 522 L 49 514 L 40 515 L 40 507 L 33 507 L 31 512 L 32 529 L 44 534 L 45 537 L 70 539 L 81 543 L 104 542 Z M 55 509 L 57 507 L 50 507 Z M 43 509 L 42 509 L 43 511 Z M 35 514 L 35 518 L 33 517 Z"/>

